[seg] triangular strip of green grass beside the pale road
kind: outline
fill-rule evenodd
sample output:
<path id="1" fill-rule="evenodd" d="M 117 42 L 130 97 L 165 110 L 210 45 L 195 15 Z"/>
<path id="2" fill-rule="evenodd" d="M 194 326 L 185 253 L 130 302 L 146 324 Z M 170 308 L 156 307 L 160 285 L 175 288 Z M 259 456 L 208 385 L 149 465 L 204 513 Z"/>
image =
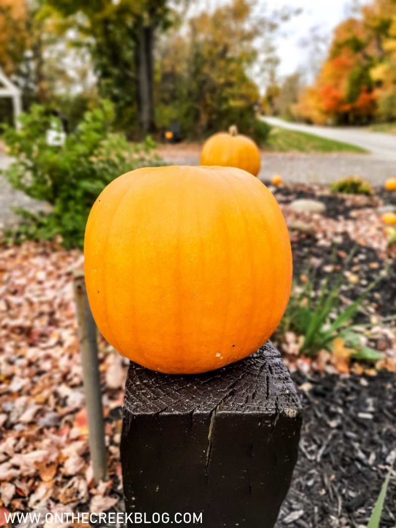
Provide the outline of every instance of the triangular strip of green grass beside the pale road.
<path id="1" fill-rule="evenodd" d="M 359 154 L 366 152 L 363 148 L 354 145 L 280 127 L 272 127 L 265 149 L 271 152 L 353 152 Z"/>

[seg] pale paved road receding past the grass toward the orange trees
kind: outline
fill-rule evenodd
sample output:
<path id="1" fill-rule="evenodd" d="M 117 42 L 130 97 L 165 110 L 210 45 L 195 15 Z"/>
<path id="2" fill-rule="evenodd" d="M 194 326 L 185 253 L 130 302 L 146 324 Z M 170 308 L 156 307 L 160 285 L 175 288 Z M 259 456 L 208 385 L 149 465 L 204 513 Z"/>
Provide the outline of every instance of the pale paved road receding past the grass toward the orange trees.
<path id="1" fill-rule="evenodd" d="M 263 117 L 262 119 L 270 125 L 277 127 L 289 128 L 290 130 L 307 132 L 309 134 L 315 134 L 316 136 L 350 143 L 351 145 L 368 150 L 375 158 L 396 162 L 396 135 L 393 134 L 370 132 L 360 127 L 339 128 L 299 125 L 276 117 Z"/>

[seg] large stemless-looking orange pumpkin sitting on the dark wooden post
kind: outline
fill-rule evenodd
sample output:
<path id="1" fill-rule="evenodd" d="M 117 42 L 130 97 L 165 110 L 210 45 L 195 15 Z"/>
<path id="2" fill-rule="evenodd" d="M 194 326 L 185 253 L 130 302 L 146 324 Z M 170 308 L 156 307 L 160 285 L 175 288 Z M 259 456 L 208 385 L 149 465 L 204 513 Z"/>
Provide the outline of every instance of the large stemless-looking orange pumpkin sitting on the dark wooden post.
<path id="1" fill-rule="evenodd" d="M 118 177 L 93 205 L 84 255 L 100 331 L 160 372 L 205 372 L 248 356 L 289 299 L 285 220 L 267 187 L 237 168 Z"/>

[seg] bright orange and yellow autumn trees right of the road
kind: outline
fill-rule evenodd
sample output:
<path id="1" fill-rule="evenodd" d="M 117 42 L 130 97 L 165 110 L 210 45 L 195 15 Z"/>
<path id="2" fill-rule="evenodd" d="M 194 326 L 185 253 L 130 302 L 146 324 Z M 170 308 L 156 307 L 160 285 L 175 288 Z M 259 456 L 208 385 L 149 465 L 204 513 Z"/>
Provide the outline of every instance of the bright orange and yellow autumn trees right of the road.
<path id="1" fill-rule="evenodd" d="M 314 122 L 396 118 L 396 0 L 373 0 L 337 26 L 300 116 Z"/>

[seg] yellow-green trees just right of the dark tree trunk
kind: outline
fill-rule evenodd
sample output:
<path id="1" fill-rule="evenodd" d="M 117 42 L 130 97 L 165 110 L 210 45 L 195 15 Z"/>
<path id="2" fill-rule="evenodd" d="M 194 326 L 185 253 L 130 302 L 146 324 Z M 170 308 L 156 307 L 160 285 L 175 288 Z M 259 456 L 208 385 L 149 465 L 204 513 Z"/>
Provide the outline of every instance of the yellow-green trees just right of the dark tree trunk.
<path id="1" fill-rule="evenodd" d="M 242 133 L 266 136 L 255 119 L 258 87 L 248 76 L 260 31 L 250 15 L 247 0 L 233 0 L 163 39 L 155 71 L 158 126 L 177 120 L 184 133 L 202 136 L 235 123 Z"/>

